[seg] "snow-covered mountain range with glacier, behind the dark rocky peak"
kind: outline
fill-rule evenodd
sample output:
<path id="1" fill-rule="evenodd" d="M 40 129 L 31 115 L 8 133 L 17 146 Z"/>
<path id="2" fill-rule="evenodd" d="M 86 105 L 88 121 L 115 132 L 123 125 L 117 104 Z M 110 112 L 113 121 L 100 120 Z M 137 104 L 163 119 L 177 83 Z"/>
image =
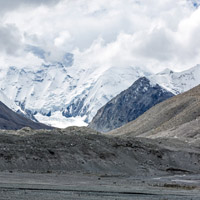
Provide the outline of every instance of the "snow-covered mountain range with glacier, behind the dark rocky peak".
<path id="1" fill-rule="evenodd" d="M 69 57 L 73 58 L 70 55 L 66 59 Z M 85 67 L 74 60 L 36 68 L 9 67 L 1 69 L 0 91 L 16 108 L 42 123 L 84 126 L 99 108 L 144 76 L 178 94 L 200 83 L 200 65 L 184 72 L 165 70 L 159 74 L 132 66 Z"/>

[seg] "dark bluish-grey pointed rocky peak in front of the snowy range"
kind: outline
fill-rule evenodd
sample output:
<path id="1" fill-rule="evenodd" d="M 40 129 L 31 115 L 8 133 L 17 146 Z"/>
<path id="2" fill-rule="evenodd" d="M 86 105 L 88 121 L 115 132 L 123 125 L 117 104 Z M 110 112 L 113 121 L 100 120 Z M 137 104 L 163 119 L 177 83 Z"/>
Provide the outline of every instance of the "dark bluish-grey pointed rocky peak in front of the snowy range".
<path id="1" fill-rule="evenodd" d="M 89 127 L 108 132 L 135 120 L 154 105 L 172 96 L 171 92 L 158 84 L 152 85 L 147 78 L 142 77 L 103 106 Z"/>

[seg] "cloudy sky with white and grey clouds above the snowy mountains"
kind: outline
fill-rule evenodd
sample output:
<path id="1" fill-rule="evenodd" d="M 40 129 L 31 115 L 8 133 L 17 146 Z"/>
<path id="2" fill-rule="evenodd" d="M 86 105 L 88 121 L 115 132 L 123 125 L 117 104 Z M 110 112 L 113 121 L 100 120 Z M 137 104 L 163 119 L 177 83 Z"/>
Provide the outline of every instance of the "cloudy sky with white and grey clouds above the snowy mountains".
<path id="1" fill-rule="evenodd" d="M 200 63 L 200 0 L 0 0 L 0 67 Z"/>

